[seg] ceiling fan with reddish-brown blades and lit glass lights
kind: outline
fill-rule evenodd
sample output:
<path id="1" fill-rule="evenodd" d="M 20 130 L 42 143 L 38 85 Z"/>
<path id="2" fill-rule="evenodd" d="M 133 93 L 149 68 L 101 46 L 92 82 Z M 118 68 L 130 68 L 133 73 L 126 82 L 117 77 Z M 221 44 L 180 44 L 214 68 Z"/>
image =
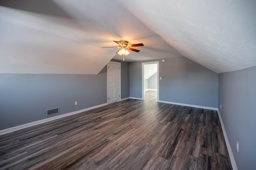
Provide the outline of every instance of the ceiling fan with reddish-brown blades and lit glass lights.
<path id="1" fill-rule="evenodd" d="M 102 47 L 102 48 L 120 48 L 116 53 L 118 53 L 119 55 L 123 55 L 123 61 L 124 61 L 124 55 L 130 54 L 128 50 L 135 51 L 137 53 L 140 51 L 131 47 L 144 46 L 144 44 L 142 43 L 129 45 L 128 44 L 129 41 L 127 40 L 120 40 L 120 41 L 114 41 L 114 42 L 117 43 L 120 47 Z"/>

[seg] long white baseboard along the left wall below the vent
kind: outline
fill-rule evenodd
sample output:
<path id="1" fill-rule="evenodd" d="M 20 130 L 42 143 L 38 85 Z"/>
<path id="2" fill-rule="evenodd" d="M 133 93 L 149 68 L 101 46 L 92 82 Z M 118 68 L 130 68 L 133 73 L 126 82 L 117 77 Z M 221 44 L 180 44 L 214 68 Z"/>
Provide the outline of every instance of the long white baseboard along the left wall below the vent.
<path id="1" fill-rule="evenodd" d="M 31 127 L 31 126 L 34 126 L 34 125 L 39 125 L 39 124 L 41 124 L 41 123 L 46 123 L 46 122 L 48 122 L 48 121 L 60 119 L 60 118 L 62 118 L 62 117 L 74 115 L 74 114 L 77 114 L 77 113 L 81 113 L 81 112 L 83 112 L 83 111 L 95 109 L 95 108 L 97 108 L 97 107 L 106 106 L 106 105 L 108 105 L 108 104 L 107 104 L 107 103 L 105 103 L 105 104 L 100 104 L 100 105 L 97 105 L 97 106 L 88 107 L 88 108 L 86 108 L 86 109 L 82 109 L 82 110 L 78 110 L 78 111 L 73 111 L 73 112 L 71 112 L 71 113 L 66 113 L 66 114 L 63 114 L 63 115 L 58 115 L 58 116 L 54 116 L 54 117 L 50 117 L 50 118 L 46 118 L 46 119 L 42 119 L 42 120 L 30 122 L 30 123 L 26 123 L 26 124 L 23 124 L 23 125 L 19 125 L 19 126 L 15 126 L 15 127 L 10 127 L 10 128 L 8 128 L 8 129 L 0 130 L 0 135 L 4 135 L 4 134 L 6 134 L 6 133 L 18 131 L 18 130 L 20 130 L 20 129 L 25 129 L 25 128 L 27 128 L 27 127 Z"/>

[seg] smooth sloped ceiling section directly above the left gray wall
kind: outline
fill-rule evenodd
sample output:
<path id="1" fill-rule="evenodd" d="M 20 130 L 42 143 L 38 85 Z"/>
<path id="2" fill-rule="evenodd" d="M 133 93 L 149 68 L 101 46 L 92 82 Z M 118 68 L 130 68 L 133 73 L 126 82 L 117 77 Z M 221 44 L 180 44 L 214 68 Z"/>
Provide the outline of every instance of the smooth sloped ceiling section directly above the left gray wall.
<path id="1" fill-rule="evenodd" d="M 1 73 L 98 74 L 115 53 L 10 23 L 0 32 Z"/>

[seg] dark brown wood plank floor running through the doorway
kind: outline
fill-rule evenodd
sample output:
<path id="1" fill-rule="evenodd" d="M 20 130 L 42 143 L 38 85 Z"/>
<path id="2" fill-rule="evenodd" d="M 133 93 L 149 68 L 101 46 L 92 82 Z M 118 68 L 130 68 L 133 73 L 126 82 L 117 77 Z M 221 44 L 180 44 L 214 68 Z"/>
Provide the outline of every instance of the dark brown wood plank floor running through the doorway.
<path id="1" fill-rule="evenodd" d="M 0 136 L 0 169 L 232 169 L 216 111 L 129 99 Z"/>

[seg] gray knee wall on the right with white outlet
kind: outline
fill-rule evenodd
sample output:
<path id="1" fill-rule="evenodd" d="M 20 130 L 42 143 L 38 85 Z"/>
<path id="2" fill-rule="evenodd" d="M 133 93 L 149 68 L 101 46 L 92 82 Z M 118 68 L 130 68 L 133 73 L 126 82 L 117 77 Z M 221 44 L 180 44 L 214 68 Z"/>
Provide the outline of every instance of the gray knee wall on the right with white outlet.
<path id="1" fill-rule="evenodd" d="M 256 167 L 255 104 L 256 66 L 219 74 L 218 109 L 239 170 L 254 170 Z"/>

